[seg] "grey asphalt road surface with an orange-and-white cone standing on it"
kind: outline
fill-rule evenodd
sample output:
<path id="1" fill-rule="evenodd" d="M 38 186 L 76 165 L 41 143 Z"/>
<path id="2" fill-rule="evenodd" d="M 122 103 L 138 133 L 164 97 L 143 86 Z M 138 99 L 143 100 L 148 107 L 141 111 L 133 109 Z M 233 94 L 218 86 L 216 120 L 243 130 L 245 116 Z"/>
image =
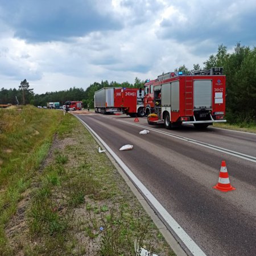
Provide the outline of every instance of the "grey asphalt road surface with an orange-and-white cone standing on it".
<path id="1" fill-rule="evenodd" d="M 134 122 L 125 115 L 93 113 L 79 118 L 125 162 L 205 254 L 256 255 L 256 135 L 213 127 L 166 130 L 148 125 L 146 118 Z M 139 135 L 147 127 L 150 133 Z M 125 144 L 133 144 L 133 150 L 119 151 Z M 222 160 L 235 191 L 212 188 L 218 183 Z"/>

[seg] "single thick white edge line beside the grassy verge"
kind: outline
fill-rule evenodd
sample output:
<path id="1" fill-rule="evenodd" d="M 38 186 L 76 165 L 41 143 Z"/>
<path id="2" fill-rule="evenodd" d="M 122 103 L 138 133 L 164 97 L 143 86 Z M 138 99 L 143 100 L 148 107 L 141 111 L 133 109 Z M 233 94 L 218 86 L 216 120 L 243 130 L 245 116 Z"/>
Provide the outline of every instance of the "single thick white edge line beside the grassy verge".
<path id="1" fill-rule="evenodd" d="M 154 206 L 154 208 L 159 212 L 159 214 L 163 217 L 163 219 L 167 222 L 172 230 L 177 234 L 181 241 L 183 241 L 184 245 L 187 246 L 188 250 L 195 256 L 206 256 L 206 254 L 200 249 L 200 247 L 192 240 L 191 237 L 181 228 L 181 226 L 174 220 L 174 218 L 167 212 L 166 209 L 159 203 L 158 200 L 148 191 L 148 189 L 139 181 L 139 179 L 133 174 L 133 172 L 126 166 L 125 163 L 115 154 L 115 152 L 106 144 L 98 134 L 84 121 L 82 121 L 79 117 L 77 117 L 80 122 L 84 124 L 84 126 L 90 130 L 93 135 L 104 145 L 106 150 L 113 156 L 113 158 L 117 161 L 119 166 L 122 167 L 123 171 L 125 171 L 126 175 L 133 180 L 133 183 L 140 189 L 143 195 L 150 201 L 150 203 Z"/>

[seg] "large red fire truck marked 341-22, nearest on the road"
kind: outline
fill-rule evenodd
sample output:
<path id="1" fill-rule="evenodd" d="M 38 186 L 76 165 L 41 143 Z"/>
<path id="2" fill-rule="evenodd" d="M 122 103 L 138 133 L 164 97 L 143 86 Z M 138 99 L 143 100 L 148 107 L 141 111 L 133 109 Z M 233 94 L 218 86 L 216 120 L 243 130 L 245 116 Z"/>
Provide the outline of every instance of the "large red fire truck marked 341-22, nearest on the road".
<path id="1" fill-rule="evenodd" d="M 226 77 L 222 71 L 222 68 L 211 68 L 185 75 L 168 72 L 147 81 L 144 109 L 148 123 L 164 122 L 171 129 L 182 123 L 206 128 L 215 122 L 226 122 Z"/>

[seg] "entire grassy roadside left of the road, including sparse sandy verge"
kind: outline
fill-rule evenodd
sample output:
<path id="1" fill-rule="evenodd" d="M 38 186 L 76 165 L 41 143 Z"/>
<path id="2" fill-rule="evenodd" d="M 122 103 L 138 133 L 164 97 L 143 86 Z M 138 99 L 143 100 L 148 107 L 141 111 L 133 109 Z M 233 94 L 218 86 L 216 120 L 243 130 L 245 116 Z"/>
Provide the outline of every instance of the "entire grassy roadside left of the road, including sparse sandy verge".
<path id="1" fill-rule="evenodd" d="M 175 255 L 76 118 L 30 106 L 18 113 L 26 121 L 0 134 L 1 255 L 135 255 L 134 243 Z"/>

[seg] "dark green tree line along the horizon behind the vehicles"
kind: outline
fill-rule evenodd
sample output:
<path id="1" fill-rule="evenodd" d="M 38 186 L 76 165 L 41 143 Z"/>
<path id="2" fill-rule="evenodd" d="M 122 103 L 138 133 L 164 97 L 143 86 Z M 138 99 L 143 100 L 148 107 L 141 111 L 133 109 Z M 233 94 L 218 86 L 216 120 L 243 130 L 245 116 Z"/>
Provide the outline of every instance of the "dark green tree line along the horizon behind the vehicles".
<path id="1" fill-rule="evenodd" d="M 193 65 L 193 70 L 223 67 L 226 75 L 226 117 L 230 123 L 256 123 L 256 47 L 241 46 L 236 44 L 233 52 L 228 52 L 226 46 L 218 46 L 217 53 L 210 55 L 204 63 Z M 191 72 L 185 65 L 176 68 L 175 71 Z M 129 82 L 118 83 L 115 81 L 101 81 L 83 88 L 70 88 L 59 92 L 47 92 L 34 94 L 29 89 L 26 79 L 20 82 L 19 89 L 0 90 L 0 104 L 16 104 L 16 98 L 21 104 L 45 106 L 46 102 L 82 101 L 93 108 L 93 96 L 96 90 L 104 87 L 120 86 L 126 88 L 143 88 L 143 80 L 136 77 L 134 84 Z"/>

